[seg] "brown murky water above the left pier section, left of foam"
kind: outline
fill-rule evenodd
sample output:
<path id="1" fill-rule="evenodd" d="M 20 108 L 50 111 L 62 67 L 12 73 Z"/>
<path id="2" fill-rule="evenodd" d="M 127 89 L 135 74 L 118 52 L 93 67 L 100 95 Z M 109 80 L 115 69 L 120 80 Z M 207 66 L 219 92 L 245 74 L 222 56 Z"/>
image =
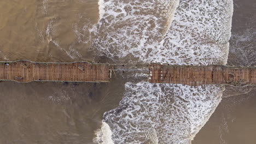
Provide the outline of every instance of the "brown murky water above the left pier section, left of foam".
<path id="1" fill-rule="evenodd" d="M 0 1 L 0 12 L 1 61 L 92 59 L 87 27 L 99 19 L 97 1 Z"/>

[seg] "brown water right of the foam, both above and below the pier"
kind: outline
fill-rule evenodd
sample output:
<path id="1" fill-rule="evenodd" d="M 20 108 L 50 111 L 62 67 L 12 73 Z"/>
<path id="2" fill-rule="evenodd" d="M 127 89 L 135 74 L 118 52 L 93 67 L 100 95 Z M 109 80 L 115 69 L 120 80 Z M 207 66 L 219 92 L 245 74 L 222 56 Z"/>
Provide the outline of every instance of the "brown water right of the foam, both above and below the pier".
<path id="1" fill-rule="evenodd" d="M 255 8 L 255 1 L 234 1 L 228 65 L 255 67 L 256 41 L 252 40 L 256 37 Z M 229 89 L 231 91 L 224 93 L 223 97 L 229 94 L 235 96 L 222 99 L 192 143 L 255 143 L 256 87 L 238 91 L 236 88 Z M 254 90 L 247 93 L 251 89 Z"/>

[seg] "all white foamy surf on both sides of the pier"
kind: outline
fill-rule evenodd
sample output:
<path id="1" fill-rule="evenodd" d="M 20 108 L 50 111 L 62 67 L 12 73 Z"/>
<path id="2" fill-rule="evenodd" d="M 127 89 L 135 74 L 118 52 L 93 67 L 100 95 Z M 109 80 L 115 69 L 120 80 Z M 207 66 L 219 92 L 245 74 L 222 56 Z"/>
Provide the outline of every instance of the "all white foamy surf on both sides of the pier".
<path id="1" fill-rule="evenodd" d="M 226 64 L 233 5 L 221 1 L 100 0 L 90 31 L 97 51 L 119 63 Z M 132 77 L 132 75 L 131 75 Z M 104 113 L 97 143 L 191 143 L 220 101 L 223 86 L 127 82 Z"/>

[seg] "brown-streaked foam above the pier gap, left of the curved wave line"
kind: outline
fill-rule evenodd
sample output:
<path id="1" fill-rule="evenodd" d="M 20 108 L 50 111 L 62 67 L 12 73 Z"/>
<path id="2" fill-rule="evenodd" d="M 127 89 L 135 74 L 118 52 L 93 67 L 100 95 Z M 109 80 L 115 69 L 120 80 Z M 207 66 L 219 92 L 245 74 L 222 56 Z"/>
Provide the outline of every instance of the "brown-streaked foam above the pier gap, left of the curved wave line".
<path id="1" fill-rule="evenodd" d="M 99 2 L 104 6 L 94 46 L 110 58 L 147 53 L 144 46 L 162 40 L 178 5 L 178 0 Z"/>

